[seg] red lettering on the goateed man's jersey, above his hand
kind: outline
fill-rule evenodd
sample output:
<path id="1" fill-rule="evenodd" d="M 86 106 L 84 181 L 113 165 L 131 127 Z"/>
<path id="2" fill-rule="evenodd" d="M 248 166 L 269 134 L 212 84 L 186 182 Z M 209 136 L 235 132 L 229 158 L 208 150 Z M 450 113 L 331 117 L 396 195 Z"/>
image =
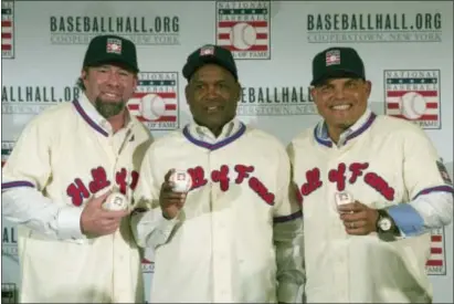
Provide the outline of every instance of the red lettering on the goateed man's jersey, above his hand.
<path id="1" fill-rule="evenodd" d="M 103 167 L 93 168 L 91 170 L 92 180 L 86 185 L 81 178 L 75 178 L 74 181 L 66 187 L 66 195 L 72 199 L 74 206 L 81 206 L 84 199 L 91 197 L 91 195 L 109 187 L 110 180 L 107 179 L 106 169 Z M 135 170 L 130 171 L 130 179 L 128 178 L 128 171 L 125 168 L 119 169 L 115 174 L 115 184 L 123 195 L 126 195 L 127 187 L 134 190 L 137 186 L 139 174 Z M 130 182 L 128 184 L 128 180 Z M 87 187 L 88 186 L 88 187 Z"/>

